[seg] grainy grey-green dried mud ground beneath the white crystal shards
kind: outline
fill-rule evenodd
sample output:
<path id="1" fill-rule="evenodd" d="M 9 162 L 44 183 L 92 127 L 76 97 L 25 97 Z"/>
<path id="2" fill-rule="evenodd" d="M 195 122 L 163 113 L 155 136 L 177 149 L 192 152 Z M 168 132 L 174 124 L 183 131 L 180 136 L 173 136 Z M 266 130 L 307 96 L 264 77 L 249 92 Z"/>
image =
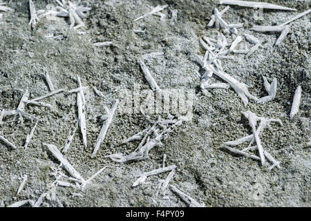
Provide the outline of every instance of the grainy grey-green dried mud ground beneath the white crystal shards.
<path id="1" fill-rule="evenodd" d="M 296 8 L 298 12 L 264 10 L 263 20 L 254 19 L 254 10 L 232 7 L 223 18 L 228 23 L 245 23 L 239 33 L 252 33 L 263 39 L 263 48 L 245 59 L 234 55 L 234 60 L 223 60 L 226 73 L 249 86 L 258 97 L 266 95 L 262 76 L 278 81 L 276 98 L 267 104 L 250 102 L 243 106 L 234 90 L 210 90 L 210 96 L 200 93 L 200 70 L 195 54 L 203 55 L 199 37 L 216 37 L 217 31 L 207 29 L 215 1 L 82 1 L 91 7 L 84 19 L 87 28 L 72 30 L 68 20 L 41 19 L 35 30 L 28 26 L 28 1 L 6 1 L 13 12 L 0 12 L 0 110 L 17 108 L 24 90 L 30 97 L 49 92 L 44 75 L 50 74 L 55 88 L 66 90 L 77 87 L 75 74 L 82 79 L 86 95 L 86 120 L 88 147 L 83 148 L 82 135 L 76 133 L 66 157 L 84 178 L 90 177 L 109 165 L 84 191 L 64 187 L 51 187 L 54 178 L 50 166 L 59 162 L 50 155 L 42 142 L 64 145 L 68 131 L 74 128 L 77 117 L 74 94 L 61 93 L 45 99 L 52 108 L 27 106 L 26 111 L 41 119 L 32 142 L 25 151 L 23 144 L 34 122 L 25 120 L 21 125 L 7 117 L 0 126 L 1 135 L 19 148 L 12 150 L 0 142 L 0 206 L 8 206 L 18 200 L 37 200 L 41 193 L 49 191 L 42 206 L 186 206 L 167 189 L 169 198 L 156 197 L 159 180 L 167 173 L 149 177 L 144 184 L 131 187 L 133 174 L 151 171 L 162 165 L 167 155 L 167 165 L 176 164 L 177 171 L 171 180 L 181 191 L 191 195 L 206 206 L 311 206 L 311 155 L 310 134 L 310 39 L 311 17 L 307 15 L 290 24 L 291 30 L 280 46 L 274 46 L 278 34 L 251 32 L 253 25 L 277 25 L 298 12 L 310 8 L 310 1 L 276 1 L 283 6 Z M 55 1 L 34 1 L 37 10 L 45 9 Z M 177 21 L 151 16 L 133 23 L 133 19 L 149 11 L 147 6 L 169 4 L 177 9 Z M 217 6 L 220 9 L 225 6 Z M 145 29 L 135 34 L 132 29 Z M 81 33 L 84 31 L 85 33 Z M 47 35 L 61 35 L 49 39 Z M 234 35 L 226 35 L 229 43 Z M 113 41 L 106 48 L 93 49 L 99 41 Z M 243 40 L 242 45 L 250 45 Z M 116 113 L 100 150 L 91 159 L 93 144 L 100 131 L 97 115 L 104 113 L 104 104 L 111 106 L 121 89 L 149 89 L 138 58 L 149 52 L 164 52 L 164 56 L 147 62 L 151 74 L 160 88 L 194 89 L 194 118 L 169 135 L 164 146 L 151 150 L 150 157 L 140 162 L 114 163 L 104 156 L 111 153 L 131 153 L 137 142 L 121 144 L 124 138 L 142 131 L 145 120 L 142 115 Z M 218 79 L 219 80 L 219 79 Z M 216 81 L 216 80 L 215 80 Z M 294 90 L 301 86 L 303 93 L 299 113 L 290 119 Z M 91 89 L 95 86 L 105 95 L 98 97 Z M 276 160 L 281 169 L 267 170 L 259 162 L 224 151 L 223 142 L 248 135 L 251 130 L 243 117 L 243 111 L 258 116 L 280 118 L 283 126 L 272 124 L 261 137 L 263 147 Z M 163 115 L 164 116 L 164 115 Z M 156 115 L 151 116 L 156 118 Z M 28 175 L 23 191 L 16 195 L 21 174 Z M 71 193 L 82 193 L 73 198 Z M 256 198 L 256 195 L 258 198 Z M 166 200 L 165 200 L 166 199 Z"/>

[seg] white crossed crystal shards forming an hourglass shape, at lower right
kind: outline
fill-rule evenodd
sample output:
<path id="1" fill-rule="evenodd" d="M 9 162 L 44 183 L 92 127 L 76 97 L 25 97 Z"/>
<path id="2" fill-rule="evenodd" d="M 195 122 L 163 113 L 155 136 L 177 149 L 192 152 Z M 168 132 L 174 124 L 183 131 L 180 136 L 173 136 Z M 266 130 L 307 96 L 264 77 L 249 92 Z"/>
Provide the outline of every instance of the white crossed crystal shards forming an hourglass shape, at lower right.
<path id="1" fill-rule="evenodd" d="M 265 117 L 258 117 L 251 111 L 245 111 L 243 115 L 248 119 L 249 121 L 249 126 L 252 128 L 252 135 L 247 135 L 245 137 L 239 138 L 238 140 L 235 141 L 230 141 L 230 142 L 225 142 L 223 145 L 224 148 L 227 148 L 227 150 L 233 152 L 233 153 L 238 153 L 240 155 L 245 155 L 246 157 L 250 157 L 254 160 L 259 160 L 261 161 L 261 164 L 265 164 L 265 157 L 267 157 L 270 162 L 272 162 L 272 166 L 270 166 L 268 169 L 271 170 L 276 166 L 277 168 L 280 168 L 279 164 L 280 162 L 277 162 L 274 160 L 274 157 L 270 155 L 267 151 L 263 149 L 263 146 L 261 145 L 261 139 L 259 137 L 260 133 L 263 131 L 263 129 L 268 126 L 271 122 L 278 122 L 279 124 L 283 125 L 280 119 L 267 119 Z M 259 122 L 258 126 L 257 122 Z M 230 146 L 238 146 L 240 144 L 243 144 L 244 142 L 249 142 L 249 146 L 247 148 L 243 148 L 242 151 L 232 148 Z M 256 142 L 255 146 L 252 146 L 252 144 Z M 247 153 L 247 151 L 250 150 L 258 150 L 259 157 L 256 155 L 252 155 L 250 153 Z"/>

